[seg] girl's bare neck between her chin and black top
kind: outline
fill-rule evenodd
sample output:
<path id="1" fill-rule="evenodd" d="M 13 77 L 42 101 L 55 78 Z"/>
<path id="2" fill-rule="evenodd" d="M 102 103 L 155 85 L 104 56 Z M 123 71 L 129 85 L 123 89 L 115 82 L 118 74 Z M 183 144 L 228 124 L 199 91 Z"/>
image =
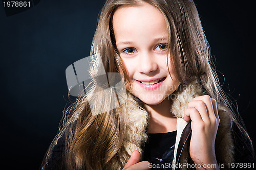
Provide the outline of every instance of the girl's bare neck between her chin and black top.
<path id="1" fill-rule="evenodd" d="M 170 112 L 171 100 L 163 100 L 157 105 L 146 105 L 150 115 L 148 133 L 166 133 L 177 130 L 177 118 Z"/>

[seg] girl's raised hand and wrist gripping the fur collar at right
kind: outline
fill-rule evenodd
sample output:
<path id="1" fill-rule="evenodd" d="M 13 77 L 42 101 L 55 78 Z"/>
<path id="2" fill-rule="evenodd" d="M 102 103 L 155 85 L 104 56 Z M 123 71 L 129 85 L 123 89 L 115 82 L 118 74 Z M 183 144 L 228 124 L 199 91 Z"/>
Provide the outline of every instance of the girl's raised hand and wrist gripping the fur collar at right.
<path id="1" fill-rule="evenodd" d="M 201 165 L 219 168 L 215 156 L 215 138 L 220 123 L 217 102 L 209 95 L 198 96 L 188 103 L 184 120 L 191 119 L 190 157 Z M 204 168 L 202 168 L 204 169 Z M 211 169 L 211 168 L 207 168 Z"/>

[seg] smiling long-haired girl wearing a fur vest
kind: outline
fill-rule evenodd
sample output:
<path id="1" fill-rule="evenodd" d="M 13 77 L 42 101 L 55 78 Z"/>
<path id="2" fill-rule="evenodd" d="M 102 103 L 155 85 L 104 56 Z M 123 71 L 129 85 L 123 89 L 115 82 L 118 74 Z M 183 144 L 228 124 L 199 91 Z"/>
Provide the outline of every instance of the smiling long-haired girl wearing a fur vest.
<path id="1" fill-rule="evenodd" d="M 67 110 L 42 169 L 254 166 L 193 1 L 106 1 L 91 53 L 91 88 Z M 120 73 L 125 93 L 102 70 Z"/>

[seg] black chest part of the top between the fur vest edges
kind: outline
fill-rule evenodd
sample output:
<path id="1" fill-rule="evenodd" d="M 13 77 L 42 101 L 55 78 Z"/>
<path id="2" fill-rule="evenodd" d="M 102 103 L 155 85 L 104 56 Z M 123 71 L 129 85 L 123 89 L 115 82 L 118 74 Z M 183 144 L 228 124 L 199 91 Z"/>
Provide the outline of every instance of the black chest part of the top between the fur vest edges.
<path id="1" fill-rule="evenodd" d="M 152 163 L 151 169 L 172 169 L 177 131 L 148 134 L 144 160 Z"/>

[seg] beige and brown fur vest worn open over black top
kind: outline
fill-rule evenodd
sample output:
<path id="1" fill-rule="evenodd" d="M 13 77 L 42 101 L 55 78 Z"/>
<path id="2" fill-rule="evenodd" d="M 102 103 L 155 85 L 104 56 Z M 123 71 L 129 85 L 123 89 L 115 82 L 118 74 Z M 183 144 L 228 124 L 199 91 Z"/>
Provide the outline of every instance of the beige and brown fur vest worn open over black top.
<path id="1" fill-rule="evenodd" d="M 172 163 L 173 169 L 175 165 L 187 163 L 194 164 L 189 155 L 189 143 L 191 137 L 190 122 L 185 122 L 183 119 L 184 111 L 187 108 L 187 104 L 193 100 L 196 96 L 204 95 L 202 86 L 197 81 L 193 81 L 187 85 L 180 85 L 179 88 L 172 94 L 174 99 L 172 106 L 170 107 L 170 114 L 174 114 L 177 117 L 177 136 L 174 150 L 174 160 Z M 148 113 L 135 105 L 137 102 L 131 96 L 128 95 L 129 101 L 126 103 L 128 114 L 125 118 L 127 125 L 127 132 L 124 140 L 125 150 L 131 155 L 133 151 L 138 150 L 143 154 L 142 145 L 147 140 L 147 126 L 148 126 Z M 220 124 L 215 141 L 215 152 L 217 162 L 227 165 L 233 161 L 233 139 L 231 137 L 231 112 L 230 110 L 218 103 L 218 113 L 220 117 Z M 122 162 L 124 163 L 124 162 Z M 125 163 L 124 163 L 125 164 Z M 118 168 L 115 168 L 118 169 Z M 189 169 L 186 166 L 180 169 Z M 225 168 L 227 169 L 227 167 Z"/>

